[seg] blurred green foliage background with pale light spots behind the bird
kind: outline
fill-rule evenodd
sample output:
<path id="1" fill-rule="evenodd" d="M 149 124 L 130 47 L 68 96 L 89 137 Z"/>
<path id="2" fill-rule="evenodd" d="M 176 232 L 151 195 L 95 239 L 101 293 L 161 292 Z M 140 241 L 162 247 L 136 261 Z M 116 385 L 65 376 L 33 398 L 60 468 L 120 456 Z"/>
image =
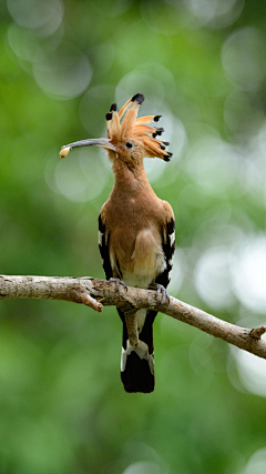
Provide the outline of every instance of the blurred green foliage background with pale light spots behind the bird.
<path id="1" fill-rule="evenodd" d="M 171 294 L 245 326 L 266 311 L 266 4 L 0 3 L 1 273 L 103 278 L 112 189 L 104 114 L 136 92 L 171 163 L 146 160 L 176 215 Z M 121 322 L 64 302 L 0 304 L 1 474 L 266 472 L 265 361 L 158 315 L 156 389 L 120 382 Z"/>

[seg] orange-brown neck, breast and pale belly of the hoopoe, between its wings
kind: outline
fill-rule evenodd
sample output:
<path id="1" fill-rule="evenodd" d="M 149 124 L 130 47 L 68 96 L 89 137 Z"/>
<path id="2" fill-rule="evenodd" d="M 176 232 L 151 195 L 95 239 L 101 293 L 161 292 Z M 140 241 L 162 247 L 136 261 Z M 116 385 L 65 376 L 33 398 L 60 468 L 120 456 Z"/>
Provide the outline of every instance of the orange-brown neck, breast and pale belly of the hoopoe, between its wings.
<path id="1" fill-rule="evenodd" d="M 122 275 L 132 275 L 131 280 L 140 278 L 142 286 L 147 288 L 155 281 L 164 264 L 164 259 L 160 260 L 156 255 L 162 255 L 162 230 L 166 224 L 167 204 L 152 190 L 143 163 L 134 171 L 120 163 L 114 172 L 113 191 L 101 211 L 110 233 L 112 268 L 115 278 L 119 276 L 120 269 Z M 140 233 L 145 252 L 141 251 Z M 157 263 L 154 259 L 157 259 Z M 126 282 L 124 276 L 123 279 Z"/>

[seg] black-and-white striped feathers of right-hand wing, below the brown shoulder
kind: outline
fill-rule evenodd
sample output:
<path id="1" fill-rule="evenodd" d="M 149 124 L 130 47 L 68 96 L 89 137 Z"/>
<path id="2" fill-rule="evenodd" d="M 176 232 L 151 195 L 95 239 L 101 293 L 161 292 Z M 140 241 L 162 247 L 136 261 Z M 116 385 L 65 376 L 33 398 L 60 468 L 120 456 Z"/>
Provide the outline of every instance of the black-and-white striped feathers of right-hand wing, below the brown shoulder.
<path id="1" fill-rule="evenodd" d="M 165 258 L 165 270 L 161 273 L 155 282 L 162 284 L 164 288 L 167 288 L 171 280 L 171 272 L 173 269 L 173 259 L 175 251 L 175 221 L 174 218 L 171 218 L 170 221 L 166 222 L 166 231 L 163 235 L 163 252 Z"/>

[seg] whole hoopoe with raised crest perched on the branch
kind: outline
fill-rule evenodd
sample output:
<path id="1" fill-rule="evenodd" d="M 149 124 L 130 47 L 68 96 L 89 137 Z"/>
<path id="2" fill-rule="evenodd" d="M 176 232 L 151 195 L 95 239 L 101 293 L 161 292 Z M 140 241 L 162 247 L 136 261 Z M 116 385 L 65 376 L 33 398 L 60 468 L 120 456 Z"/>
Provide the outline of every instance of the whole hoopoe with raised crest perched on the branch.
<path id="1" fill-rule="evenodd" d="M 125 289 L 155 288 L 161 303 L 168 297 L 166 286 L 175 249 L 174 213 L 167 201 L 158 199 L 147 181 L 144 157 L 170 161 L 168 142 L 157 139 L 164 131 L 151 122 L 161 115 L 137 119 L 144 95 L 135 94 L 117 111 L 106 113 L 108 139 L 91 139 L 61 148 L 64 158 L 73 148 L 98 145 L 108 150 L 114 186 L 99 215 L 99 248 L 108 280 Z M 153 322 L 156 311 L 135 312 L 139 341 L 132 341 L 129 319 L 120 309 L 123 323 L 121 379 L 126 392 L 154 390 Z"/>

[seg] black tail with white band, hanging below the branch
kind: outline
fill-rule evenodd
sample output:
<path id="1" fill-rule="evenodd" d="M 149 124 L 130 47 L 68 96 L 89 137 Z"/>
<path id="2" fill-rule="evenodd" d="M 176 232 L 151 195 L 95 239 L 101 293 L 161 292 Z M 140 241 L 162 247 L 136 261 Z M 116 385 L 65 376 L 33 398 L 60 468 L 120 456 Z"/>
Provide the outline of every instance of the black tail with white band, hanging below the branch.
<path id="1" fill-rule="evenodd" d="M 125 317 L 119 310 L 123 322 L 123 343 L 121 356 L 121 380 L 127 393 L 150 393 L 154 391 L 154 351 L 153 351 L 153 321 L 156 311 L 146 312 L 145 322 L 140 333 L 139 347 L 130 345 Z"/>

